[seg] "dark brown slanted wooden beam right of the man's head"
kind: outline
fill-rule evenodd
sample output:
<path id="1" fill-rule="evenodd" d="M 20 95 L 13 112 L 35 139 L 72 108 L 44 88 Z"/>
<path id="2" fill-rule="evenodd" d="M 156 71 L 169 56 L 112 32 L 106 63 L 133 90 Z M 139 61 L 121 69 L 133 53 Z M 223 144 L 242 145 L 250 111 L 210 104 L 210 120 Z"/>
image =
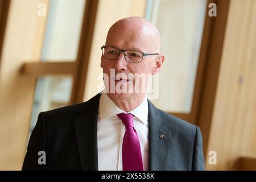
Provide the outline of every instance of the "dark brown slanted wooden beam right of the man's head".
<path id="1" fill-rule="evenodd" d="M 200 105 L 198 106 L 198 111 L 196 112 L 198 113 L 196 115 L 196 120 L 198 121 L 197 125 L 199 125 L 201 128 L 204 140 L 205 159 L 207 159 L 206 152 L 208 147 L 210 125 L 212 123 L 213 107 L 218 82 L 218 72 L 220 69 L 222 47 L 224 44 L 226 21 L 228 18 L 229 10 L 229 0 L 217 0 L 214 2 L 217 5 L 217 17 L 212 17 L 212 20 L 210 20 L 213 22 L 212 26 L 210 27 L 210 37 L 207 41 L 205 40 L 205 42 L 208 42 L 208 49 L 207 51 L 204 51 L 203 48 L 203 55 L 200 55 L 207 61 L 203 65 L 200 65 L 200 69 L 203 69 L 201 67 L 204 67 L 204 73 L 201 73 L 201 75 L 203 75 L 203 80 L 200 83 L 202 92 L 198 101 Z"/>

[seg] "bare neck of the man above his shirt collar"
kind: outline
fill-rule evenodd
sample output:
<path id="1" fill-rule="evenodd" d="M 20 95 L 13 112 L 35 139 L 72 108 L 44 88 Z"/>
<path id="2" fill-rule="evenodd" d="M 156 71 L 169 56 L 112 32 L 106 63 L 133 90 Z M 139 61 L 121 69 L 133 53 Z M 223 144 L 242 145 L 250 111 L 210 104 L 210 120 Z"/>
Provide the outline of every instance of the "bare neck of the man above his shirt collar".
<path id="1" fill-rule="evenodd" d="M 143 102 L 146 94 L 133 94 L 128 97 L 115 97 L 112 94 L 108 94 L 108 96 L 120 109 L 129 112 Z"/>

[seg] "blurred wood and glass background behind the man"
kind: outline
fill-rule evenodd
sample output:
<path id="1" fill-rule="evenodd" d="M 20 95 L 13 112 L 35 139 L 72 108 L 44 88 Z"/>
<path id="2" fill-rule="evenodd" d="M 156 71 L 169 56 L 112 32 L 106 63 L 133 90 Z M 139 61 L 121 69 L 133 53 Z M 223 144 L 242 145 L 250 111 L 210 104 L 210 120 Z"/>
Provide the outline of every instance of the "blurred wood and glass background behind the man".
<path id="1" fill-rule="evenodd" d="M 0 0 L 0 170 L 21 169 L 40 111 L 97 94 L 100 48 L 127 16 L 158 27 L 152 102 L 200 127 L 206 169 L 256 170 L 256 0 Z"/>

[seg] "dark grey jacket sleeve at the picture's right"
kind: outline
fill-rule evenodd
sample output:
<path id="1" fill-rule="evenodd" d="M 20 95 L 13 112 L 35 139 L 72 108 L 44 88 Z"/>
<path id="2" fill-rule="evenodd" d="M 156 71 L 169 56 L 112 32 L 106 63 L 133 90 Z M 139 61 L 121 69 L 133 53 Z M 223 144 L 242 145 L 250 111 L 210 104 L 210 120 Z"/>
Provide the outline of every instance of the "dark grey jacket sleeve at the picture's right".
<path id="1" fill-rule="evenodd" d="M 196 137 L 193 149 L 192 171 L 204 170 L 203 139 L 200 128 L 196 126 Z"/>

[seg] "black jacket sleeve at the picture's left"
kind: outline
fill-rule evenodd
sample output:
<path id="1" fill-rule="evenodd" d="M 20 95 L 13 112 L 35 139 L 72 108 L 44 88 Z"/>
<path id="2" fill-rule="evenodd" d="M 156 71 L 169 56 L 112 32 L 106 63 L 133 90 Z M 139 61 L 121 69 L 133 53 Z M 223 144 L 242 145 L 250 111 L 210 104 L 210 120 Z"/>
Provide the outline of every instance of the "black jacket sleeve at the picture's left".
<path id="1" fill-rule="evenodd" d="M 43 154 L 44 152 L 44 154 Z M 44 155 L 44 156 L 43 156 Z M 38 115 L 38 121 L 32 131 L 28 142 L 27 153 L 23 162 L 22 171 L 45 170 L 46 164 L 42 163 L 42 158 L 46 157 L 46 129 L 44 125 L 43 112 Z"/>

